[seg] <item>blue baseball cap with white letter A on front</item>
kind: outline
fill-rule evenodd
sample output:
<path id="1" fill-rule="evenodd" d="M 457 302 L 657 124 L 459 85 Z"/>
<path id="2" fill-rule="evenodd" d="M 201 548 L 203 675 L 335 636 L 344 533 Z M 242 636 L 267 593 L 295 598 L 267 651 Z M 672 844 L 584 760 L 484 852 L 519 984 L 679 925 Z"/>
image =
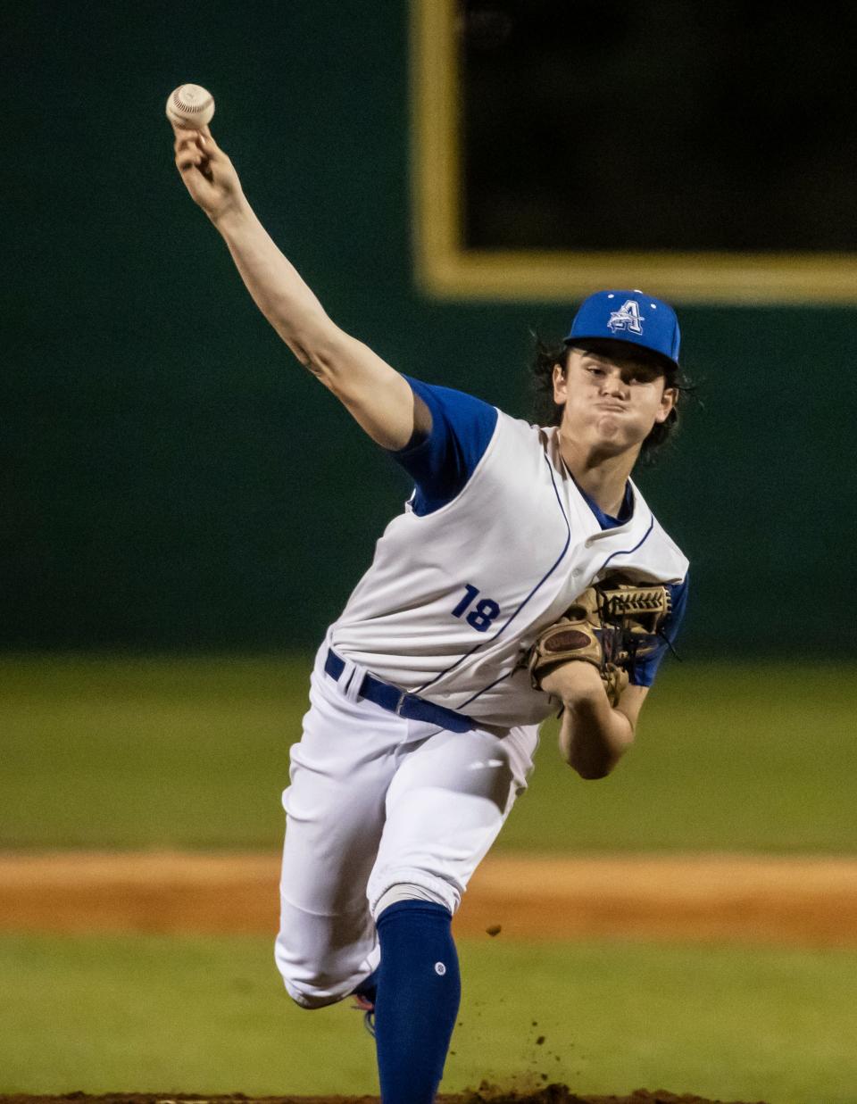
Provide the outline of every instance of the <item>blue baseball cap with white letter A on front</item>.
<path id="1" fill-rule="evenodd" d="M 565 344 L 585 339 L 629 341 L 660 353 L 678 368 L 681 335 L 676 312 L 663 299 L 634 291 L 595 291 L 584 299 Z"/>

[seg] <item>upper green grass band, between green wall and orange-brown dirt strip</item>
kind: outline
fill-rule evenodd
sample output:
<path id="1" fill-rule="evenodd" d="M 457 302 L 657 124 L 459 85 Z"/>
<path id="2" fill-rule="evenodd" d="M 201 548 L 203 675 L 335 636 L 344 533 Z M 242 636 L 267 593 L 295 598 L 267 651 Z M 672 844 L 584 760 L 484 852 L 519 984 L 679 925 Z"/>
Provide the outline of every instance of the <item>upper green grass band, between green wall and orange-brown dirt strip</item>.
<path id="1" fill-rule="evenodd" d="M 278 848 L 306 658 L 0 660 L 0 843 Z M 615 775 L 546 725 L 497 843 L 857 850 L 857 669 L 668 664 Z"/>

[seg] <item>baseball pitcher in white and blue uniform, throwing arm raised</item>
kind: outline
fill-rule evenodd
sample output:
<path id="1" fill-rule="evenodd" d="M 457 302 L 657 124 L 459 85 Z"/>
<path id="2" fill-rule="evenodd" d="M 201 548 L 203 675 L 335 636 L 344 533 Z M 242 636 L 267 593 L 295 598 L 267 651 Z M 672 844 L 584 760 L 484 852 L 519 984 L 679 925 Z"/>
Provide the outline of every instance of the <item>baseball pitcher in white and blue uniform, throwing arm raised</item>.
<path id="1" fill-rule="evenodd" d="M 676 417 L 678 323 L 641 291 L 592 295 L 542 364 L 553 424 L 518 421 L 342 332 L 210 129 L 174 129 L 181 178 L 256 305 L 413 479 L 318 649 L 283 795 L 275 958 L 300 1007 L 356 996 L 373 1015 L 384 1104 L 430 1104 L 461 996 L 451 920 L 527 786 L 539 724 L 562 709 L 563 755 L 606 775 L 681 616 L 688 562 L 631 479 Z M 575 606 L 615 578 L 665 603 L 629 659 Z"/>

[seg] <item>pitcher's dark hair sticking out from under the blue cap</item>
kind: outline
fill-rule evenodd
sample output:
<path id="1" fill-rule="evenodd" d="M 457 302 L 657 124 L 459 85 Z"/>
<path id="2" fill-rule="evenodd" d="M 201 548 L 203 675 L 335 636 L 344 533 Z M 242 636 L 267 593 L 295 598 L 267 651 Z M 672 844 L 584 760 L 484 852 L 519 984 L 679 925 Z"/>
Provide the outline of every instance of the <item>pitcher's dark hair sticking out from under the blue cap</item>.
<path id="1" fill-rule="evenodd" d="M 588 352 L 599 352 L 605 355 L 621 349 L 623 357 L 633 357 L 635 362 L 652 368 L 656 376 L 663 375 L 665 386 L 675 388 L 679 395 L 691 394 L 696 390 L 681 369 L 677 368 L 671 360 L 629 341 L 601 338 L 574 341 L 571 344 L 563 342 L 558 346 L 547 344 L 538 333 L 532 336 L 536 341 L 536 351 L 530 365 L 535 392 L 533 414 L 539 425 L 559 425 L 562 421 L 563 405 L 553 402 L 553 369 L 559 364 L 563 373 L 565 372 L 572 349 L 584 349 Z M 654 454 L 674 435 L 677 426 L 678 406 L 676 405 L 665 422 L 658 422 L 652 427 L 652 432 L 639 449 L 641 460 L 653 463 Z"/>

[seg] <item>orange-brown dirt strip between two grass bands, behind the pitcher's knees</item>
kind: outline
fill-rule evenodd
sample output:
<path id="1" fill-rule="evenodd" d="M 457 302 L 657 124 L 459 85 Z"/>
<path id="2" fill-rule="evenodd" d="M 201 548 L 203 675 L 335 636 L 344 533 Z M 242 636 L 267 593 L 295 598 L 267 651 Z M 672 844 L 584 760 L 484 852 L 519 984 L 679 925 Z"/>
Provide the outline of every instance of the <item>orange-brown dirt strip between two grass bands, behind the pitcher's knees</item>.
<path id="1" fill-rule="evenodd" d="M 276 932 L 279 856 L 0 852 L 0 931 Z M 457 935 L 854 946 L 857 859 L 488 856 Z"/>

